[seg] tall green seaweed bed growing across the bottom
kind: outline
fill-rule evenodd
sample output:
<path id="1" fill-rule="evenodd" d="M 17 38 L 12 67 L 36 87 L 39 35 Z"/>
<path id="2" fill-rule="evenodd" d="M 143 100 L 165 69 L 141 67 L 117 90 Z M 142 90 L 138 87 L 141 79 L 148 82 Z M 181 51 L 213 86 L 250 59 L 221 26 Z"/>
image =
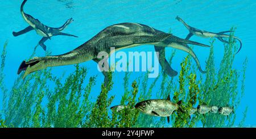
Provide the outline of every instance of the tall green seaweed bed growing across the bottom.
<path id="1" fill-rule="evenodd" d="M 22 79 L 22 73 L 15 79 L 13 87 L 7 89 L 4 82 L 6 41 L 1 54 L 0 88 L 3 100 L 0 127 L 234 127 L 236 115 L 240 113 L 226 117 L 214 113 L 189 116 L 188 112 L 202 103 L 210 106 L 229 105 L 235 109 L 240 105 L 245 94 L 247 58 L 242 70 L 232 67 L 237 50 L 235 43 L 229 37 L 229 44 L 224 45 L 220 66 L 216 66 L 214 40 L 210 41 L 206 74 L 198 73 L 191 56 L 183 59 L 179 75 L 174 78 L 162 71 L 155 79 L 149 79 L 148 73 L 142 73 L 141 77 L 129 82 L 131 73 L 126 72 L 123 78 L 125 92 L 118 102 L 127 107 L 114 112 L 109 109 L 115 98 L 109 92 L 119 83 L 112 81 L 114 74 L 109 72 L 108 85 L 100 82 L 101 91 L 94 102 L 90 94 L 97 93 L 93 88 L 99 83 L 96 82 L 97 76 L 89 77 L 87 69 L 79 65 L 75 65 L 72 73 L 63 73 L 61 77 L 53 75 L 51 68 L 30 74 L 25 79 Z M 172 51 L 170 64 L 175 52 Z M 176 111 L 171 115 L 170 124 L 166 117 L 144 115 L 134 108 L 137 102 L 151 98 L 166 99 L 169 94 L 173 102 L 183 102 L 183 112 Z M 243 118 L 239 127 L 244 126 L 247 109 L 241 113 Z"/>

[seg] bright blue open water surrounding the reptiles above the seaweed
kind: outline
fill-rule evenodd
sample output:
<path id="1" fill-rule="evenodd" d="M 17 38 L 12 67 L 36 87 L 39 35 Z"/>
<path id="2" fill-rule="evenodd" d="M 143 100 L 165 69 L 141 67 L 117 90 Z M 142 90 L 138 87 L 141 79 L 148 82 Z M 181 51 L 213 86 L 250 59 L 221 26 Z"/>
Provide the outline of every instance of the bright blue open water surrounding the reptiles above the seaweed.
<path id="1" fill-rule="evenodd" d="M 69 1 L 71 2 L 71 1 Z M 13 85 L 14 79 L 18 77 L 16 71 L 20 62 L 27 60 L 34 50 L 36 44 L 42 38 L 35 31 L 28 32 L 24 35 L 14 37 L 11 32 L 19 31 L 27 27 L 28 24 L 20 15 L 20 4 L 22 1 L 9 0 L 0 3 L 0 45 L 9 40 L 7 47 L 5 74 L 8 87 Z M 237 121 L 242 119 L 242 112 L 246 106 L 249 106 L 245 121 L 246 126 L 256 125 L 256 94 L 255 94 L 255 39 L 256 39 L 256 1 L 251 0 L 232 0 L 232 1 L 72 1 L 72 8 L 67 8 L 65 2 L 57 0 L 44 1 L 28 0 L 24 7 L 24 11 L 49 27 L 60 27 L 69 18 L 75 21 L 71 23 L 63 32 L 72 33 L 79 38 L 68 36 L 54 36 L 51 40 L 46 41 L 47 49 L 52 55 L 63 54 L 77 48 L 85 43 L 91 37 L 96 35 L 107 26 L 116 23 L 133 22 L 142 23 L 154 27 L 158 30 L 168 32 L 171 28 L 175 36 L 184 38 L 187 36 L 187 29 L 177 22 L 175 17 L 179 15 L 189 25 L 211 32 L 220 32 L 229 30 L 236 26 L 236 36 L 240 37 L 243 47 L 236 55 L 234 68 L 242 69 L 242 63 L 248 58 L 246 71 L 245 96 L 240 106 L 237 108 Z M 209 44 L 209 39 L 202 39 L 193 36 L 191 40 L 200 43 Z M 216 65 L 224 53 L 223 44 L 216 41 L 214 48 Z M 2 50 L 2 48 L 1 48 Z M 130 48 L 129 51 L 153 51 L 151 45 Z M 172 48 L 167 48 L 167 57 L 170 57 Z M 194 47 L 194 51 L 205 68 L 205 60 L 209 54 L 208 48 Z M 45 52 L 42 48 L 36 49 L 36 56 L 44 56 Z M 172 62 L 172 68 L 180 70 L 180 62 L 187 53 L 177 50 Z M 97 85 L 93 88 L 95 97 L 99 93 L 100 84 L 103 81 L 103 75 L 97 70 L 97 64 L 93 61 L 84 62 L 88 68 L 89 75 L 98 75 Z M 63 71 L 71 73 L 74 66 L 60 66 L 52 69 L 56 75 L 60 75 Z M 113 104 L 118 104 L 123 94 L 124 73 L 114 74 L 114 87 L 110 94 L 115 94 Z M 130 81 L 133 81 L 141 73 L 131 73 Z M 153 79 L 152 79 L 153 80 Z M 117 85 L 120 83 L 121 85 Z M 2 97 L 0 95 L 0 97 Z M 92 96 L 92 99 L 95 99 Z"/>

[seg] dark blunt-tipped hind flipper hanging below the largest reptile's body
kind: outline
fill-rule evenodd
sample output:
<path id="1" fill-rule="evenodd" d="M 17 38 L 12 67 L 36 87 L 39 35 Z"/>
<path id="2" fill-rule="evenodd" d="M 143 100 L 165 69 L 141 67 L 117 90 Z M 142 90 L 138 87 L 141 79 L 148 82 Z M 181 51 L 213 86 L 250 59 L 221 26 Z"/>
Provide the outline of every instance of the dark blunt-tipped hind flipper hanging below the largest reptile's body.
<path id="1" fill-rule="evenodd" d="M 170 77 L 175 77 L 177 75 L 177 71 L 171 68 L 170 64 L 166 60 L 166 50 L 164 47 L 158 47 L 155 45 L 155 51 L 159 52 L 158 61 L 162 66 L 164 72 Z"/>

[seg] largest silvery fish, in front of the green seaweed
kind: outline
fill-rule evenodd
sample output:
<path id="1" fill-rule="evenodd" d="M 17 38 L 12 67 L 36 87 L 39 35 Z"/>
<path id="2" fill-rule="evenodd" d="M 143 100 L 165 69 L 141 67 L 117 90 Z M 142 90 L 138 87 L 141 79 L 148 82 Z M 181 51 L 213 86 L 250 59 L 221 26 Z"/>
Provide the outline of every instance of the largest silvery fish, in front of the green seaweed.
<path id="1" fill-rule="evenodd" d="M 174 111 L 180 110 L 184 112 L 180 107 L 181 103 L 181 100 L 178 103 L 171 102 L 170 95 L 168 95 L 167 99 L 144 100 L 143 102 L 137 103 L 135 108 L 146 115 L 167 117 L 167 121 L 170 123 L 170 115 L 172 115 Z"/>

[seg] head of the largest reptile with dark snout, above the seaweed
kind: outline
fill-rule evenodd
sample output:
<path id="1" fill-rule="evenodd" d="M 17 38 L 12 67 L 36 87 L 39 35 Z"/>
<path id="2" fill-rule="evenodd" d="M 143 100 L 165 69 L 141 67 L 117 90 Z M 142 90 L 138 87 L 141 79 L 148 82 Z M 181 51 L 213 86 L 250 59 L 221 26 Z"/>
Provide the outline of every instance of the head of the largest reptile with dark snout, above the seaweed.
<path id="1" fill-rule="evenodd" d="M 18 74 L 21 73 L 21 71 L 25 71 L 23 75 L 23 79 L 30 73 L 33 73 L 34 71 L 42 70 L 46 68 L 45 65 L 46 60 L 44 58 L 35 57 L 30 61 L 22 61 L 22 63 L 19 66 Z"/>

